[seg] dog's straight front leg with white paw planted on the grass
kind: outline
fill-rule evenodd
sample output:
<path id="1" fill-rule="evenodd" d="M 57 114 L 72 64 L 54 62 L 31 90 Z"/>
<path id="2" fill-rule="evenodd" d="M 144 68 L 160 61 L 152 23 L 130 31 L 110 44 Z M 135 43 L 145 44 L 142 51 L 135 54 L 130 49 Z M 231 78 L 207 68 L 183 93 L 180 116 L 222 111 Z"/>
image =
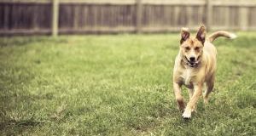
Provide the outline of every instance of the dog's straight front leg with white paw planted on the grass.
<path id="1" fill-rule="evenodd" d="M 189 103 L 186 106 L 185 111 L 183 112 L 183 118 L 190 118 L 192 111 L 195 111 L 195 104 L 202 94 L 202 86 L 202 83 L 194 85 L 195 92 L 192 98 L 189 99 Z"/>

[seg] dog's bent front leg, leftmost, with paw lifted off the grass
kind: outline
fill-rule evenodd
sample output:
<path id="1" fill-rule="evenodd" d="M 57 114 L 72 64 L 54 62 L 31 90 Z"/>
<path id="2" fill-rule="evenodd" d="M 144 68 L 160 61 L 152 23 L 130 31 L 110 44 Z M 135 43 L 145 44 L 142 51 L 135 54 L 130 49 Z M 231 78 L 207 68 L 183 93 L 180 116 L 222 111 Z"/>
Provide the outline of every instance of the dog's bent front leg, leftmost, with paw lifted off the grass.
<path id="1" fill-rule="evenodd" d="M 173 82 L 173 90 L 174 90 L 175 99 L 177 101 L 179 110 L 184 111 L 185 102 L 184 102 L 183 96 L 181 94 L 181 84 L 178 84 L 177 82 Z"/>

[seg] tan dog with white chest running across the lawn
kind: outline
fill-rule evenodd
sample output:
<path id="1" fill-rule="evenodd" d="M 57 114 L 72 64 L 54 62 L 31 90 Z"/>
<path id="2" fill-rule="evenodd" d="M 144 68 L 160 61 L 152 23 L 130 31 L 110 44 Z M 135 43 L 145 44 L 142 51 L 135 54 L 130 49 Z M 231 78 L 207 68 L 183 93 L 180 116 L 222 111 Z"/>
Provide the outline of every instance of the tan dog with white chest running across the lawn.
<path id="1" fill-rule="evenodd" d="M 175 59 L 173 70 L 173 88 L 177 105 L 183 111 L 183 118 L 190 118 L 195 111 L 195 105 L 202 94 L 206 83 L 206 91 L 203 95 L 207 104 L 208 96 L 214 86 L 216 71 L 217 50 L 212 41 L 217 37 L 235 38 L 236 35 L 227 31 L 216 31 L 206 38 L 205 26 L 201 26 L 196 37 L 189 36 L 189 30 L 181 31 L 180 50 Z M 189 103 L 185 106 L 181 87 L 189 88 Z"/>

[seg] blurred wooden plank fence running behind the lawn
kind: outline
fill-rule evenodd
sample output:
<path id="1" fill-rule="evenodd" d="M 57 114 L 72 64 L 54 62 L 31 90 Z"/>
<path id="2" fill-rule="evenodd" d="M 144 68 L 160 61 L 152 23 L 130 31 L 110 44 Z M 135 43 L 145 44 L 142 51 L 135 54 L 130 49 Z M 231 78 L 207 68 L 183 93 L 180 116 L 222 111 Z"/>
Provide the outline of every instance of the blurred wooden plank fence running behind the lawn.
<path id="1" fill-rule="evenodd" d="M 0 35 L 256 30 L 256 0 L 0 0 Z"/>

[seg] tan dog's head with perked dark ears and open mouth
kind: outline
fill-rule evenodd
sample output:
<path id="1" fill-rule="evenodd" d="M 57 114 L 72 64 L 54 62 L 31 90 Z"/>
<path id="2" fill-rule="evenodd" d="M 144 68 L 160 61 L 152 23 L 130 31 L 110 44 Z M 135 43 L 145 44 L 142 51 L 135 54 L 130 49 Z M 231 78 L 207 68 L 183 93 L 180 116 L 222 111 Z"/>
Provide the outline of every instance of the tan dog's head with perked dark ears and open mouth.
<path id="1" fill-rule="evenodd" d="M 190 67 L 195 67 L 201 61 L 206 34 L 207 30 L 205 26 L 199 28 L 196 37 L 190 37 L 188 28 L 182 28 L 181 30 L 181 55 L 183 61 Z"/>

